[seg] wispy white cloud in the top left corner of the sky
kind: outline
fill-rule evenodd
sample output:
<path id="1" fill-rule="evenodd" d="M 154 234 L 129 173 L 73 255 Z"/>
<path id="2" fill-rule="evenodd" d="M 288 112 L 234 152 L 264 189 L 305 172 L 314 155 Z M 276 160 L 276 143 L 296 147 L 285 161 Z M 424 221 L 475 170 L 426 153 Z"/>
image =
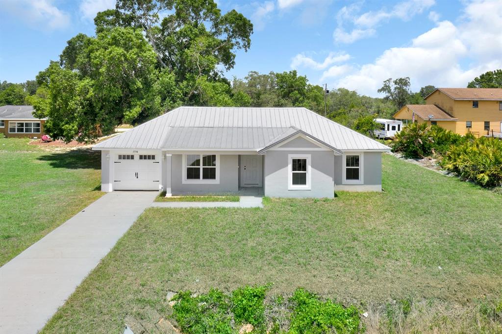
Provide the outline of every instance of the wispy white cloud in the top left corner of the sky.
<path id="1" fill-rule="evenodd" d="M 2 7 L 38 30 L 64 29 L 70 24 L 70 15 L 48 0 L 7 1 Z"/>

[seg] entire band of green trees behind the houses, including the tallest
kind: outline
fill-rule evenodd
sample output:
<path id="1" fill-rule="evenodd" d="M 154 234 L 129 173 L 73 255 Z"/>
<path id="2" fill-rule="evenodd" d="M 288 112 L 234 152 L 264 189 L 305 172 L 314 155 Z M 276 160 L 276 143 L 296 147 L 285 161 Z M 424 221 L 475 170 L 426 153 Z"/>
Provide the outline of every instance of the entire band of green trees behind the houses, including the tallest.
<path id="1" fill-rule="evenodd" d="M 168 13 L 161 20 L 159 13 Z M 391 118 L 424 103 L 434 86 L 410 90 L 410 78 L 388 79 L 384 98 L 344 88 L 328 94 L 296 71 L 251 71 L 228 80 L 235 52 L 251 45 L 253 25 L 213 0 L 118 0 L 94 19 L 95 36 L 78 34 L 36 80 L 0 84 L 0 104 L 31 104 L 46 130 L 66 141 L 92 141 L 121 123 L 138 124 L 180 105 L 302 106 L 363 133 L 375 116 Z M 500 84 L 500 70 L 469 83 Z"/>

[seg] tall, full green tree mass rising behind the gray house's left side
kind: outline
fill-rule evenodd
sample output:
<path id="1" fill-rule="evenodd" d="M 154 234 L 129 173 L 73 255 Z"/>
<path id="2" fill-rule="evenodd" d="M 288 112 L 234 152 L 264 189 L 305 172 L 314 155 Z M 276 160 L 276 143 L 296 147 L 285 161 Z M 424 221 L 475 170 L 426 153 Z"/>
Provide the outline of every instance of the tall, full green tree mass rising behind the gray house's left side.
<path id="1" fill-rule="evenodd" d="M 253 33 L 235 10 L 222 15 L 213 0 L 118 0 L 94 22 L 95 37 L 70 39 L 37 76 L 31 102 L 53 137 L 91 141 L 182 104 L 250 104 L 222 76 Z"/>

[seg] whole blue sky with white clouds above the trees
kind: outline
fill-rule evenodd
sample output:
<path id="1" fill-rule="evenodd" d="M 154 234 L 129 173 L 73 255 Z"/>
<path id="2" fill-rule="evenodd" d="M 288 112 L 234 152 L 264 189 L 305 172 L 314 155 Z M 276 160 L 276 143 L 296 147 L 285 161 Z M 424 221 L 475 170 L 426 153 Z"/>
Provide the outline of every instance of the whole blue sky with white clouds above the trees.
<path id="1" fill-rule="evenodd" d="M 94 34 L 92 19 L 113 0 L 0 2 L 0 80 L 34 79 L 66 41 Z M 414 90 L 465 87 L 502 68 L 501 1 L 219 0 L 252 20 L 246 53 L 225 75 L 296 69 L 314 84 L 378 96 L 387 78 L 409 76 Z"/>

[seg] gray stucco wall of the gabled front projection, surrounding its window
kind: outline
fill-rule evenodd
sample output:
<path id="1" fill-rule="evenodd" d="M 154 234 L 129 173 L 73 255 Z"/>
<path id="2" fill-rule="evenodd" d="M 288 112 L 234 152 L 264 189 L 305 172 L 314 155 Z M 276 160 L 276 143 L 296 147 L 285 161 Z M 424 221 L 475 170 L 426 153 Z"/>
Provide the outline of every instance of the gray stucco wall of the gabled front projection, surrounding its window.
<path id="1" fill-rule="evenodd" d="M 311 190 L 288 190 L 288 154 L 311 154 Z M 269 150 L 264 159 L 264 191 L 270 197 L 333 197 L 332 151 Z"/>

